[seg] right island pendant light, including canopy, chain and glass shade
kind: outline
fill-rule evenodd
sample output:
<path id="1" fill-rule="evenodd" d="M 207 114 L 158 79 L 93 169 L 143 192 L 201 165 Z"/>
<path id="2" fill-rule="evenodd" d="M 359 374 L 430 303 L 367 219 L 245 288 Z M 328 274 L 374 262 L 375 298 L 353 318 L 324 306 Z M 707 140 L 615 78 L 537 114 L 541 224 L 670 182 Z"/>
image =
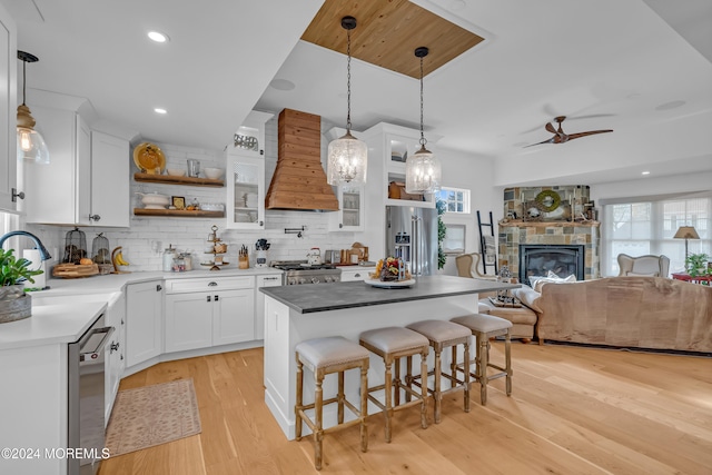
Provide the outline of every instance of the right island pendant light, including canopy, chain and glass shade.
<path id="1" fill-rule="evenodd" d="M 423 58 L 427 53 L 426 47 L 415 49 L 415 56 L 421 58 L 421 149 L 405 161 L 405 191 L 409 194 L 435 192 L 441 187 L 441 160 L 425 148 L 423 133 Z"/>

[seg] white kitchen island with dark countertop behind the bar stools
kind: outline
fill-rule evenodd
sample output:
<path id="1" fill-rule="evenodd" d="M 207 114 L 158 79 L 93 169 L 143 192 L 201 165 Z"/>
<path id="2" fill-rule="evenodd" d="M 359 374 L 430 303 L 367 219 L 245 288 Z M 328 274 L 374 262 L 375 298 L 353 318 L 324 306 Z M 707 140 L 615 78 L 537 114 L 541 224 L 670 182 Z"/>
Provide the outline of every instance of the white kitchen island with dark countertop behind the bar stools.
<path id="1" fill-rule="evenodd" d="M 265 403 L 287 438 L 295 434 L 296 362 L 299 342 L 343 336 L 358 342 L 362 331 L 406 326 L 425 319 L 449 320 L 477 311 L 477 294 L 520 287 L 492 280 L 453 276 L 419 277 L 406 288 L 378 288 L 364 281 L 268 287 L 265 301 Z M 447 352 L 449 353 L 449 352 Z M 443 355 L 447 364 L 447 355 Z M 432 355 L 431 355 L 432 358 Z M 414 365 L 418 365 L 414 357 Z M 432 362 L 431 362 L 432 366 Z M 349 374 L 350 373 L 350 374 Z M 358 400 L 357 372 L 346 373 L 346 396 Z M 372 357 L 368 385 L 383 383 L 380 358 Z M 314 395 L 314 377 L 305 372 L 305 402 Z M 324 383 L 325 394 L 335 394 L 336 378 Z M 325 408 L 325 427 L 336 420 L 335 408 Z M 369 405 L 369 414 L 376 412 Z"/>

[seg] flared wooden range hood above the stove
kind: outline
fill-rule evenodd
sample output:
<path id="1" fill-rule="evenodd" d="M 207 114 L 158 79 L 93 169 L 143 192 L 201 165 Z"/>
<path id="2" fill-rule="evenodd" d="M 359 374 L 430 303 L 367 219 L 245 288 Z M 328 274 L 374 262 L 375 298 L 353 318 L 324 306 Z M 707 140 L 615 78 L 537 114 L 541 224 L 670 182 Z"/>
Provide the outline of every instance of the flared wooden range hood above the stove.
<path id="1" fill-rule="evenodd" d="M 278 119 L 277 167 L 265 208 L 337 211 L 338 200 L 322 167 L 322 118 L 284 109 Z"/>

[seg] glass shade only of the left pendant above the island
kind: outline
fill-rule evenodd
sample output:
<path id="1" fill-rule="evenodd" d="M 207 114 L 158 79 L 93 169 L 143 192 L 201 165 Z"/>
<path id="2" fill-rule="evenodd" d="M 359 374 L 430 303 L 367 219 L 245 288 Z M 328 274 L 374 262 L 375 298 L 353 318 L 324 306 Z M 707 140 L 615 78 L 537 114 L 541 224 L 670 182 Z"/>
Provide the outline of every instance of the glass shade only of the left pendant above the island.
<path id="1" fill-rule="evenodd" d="M 326 178 L 329 185 L 365 184 L 367 166 L 366 144 L 352 136 L 349 131 L 344 137 L 329 142 L 326 164 Z"/>

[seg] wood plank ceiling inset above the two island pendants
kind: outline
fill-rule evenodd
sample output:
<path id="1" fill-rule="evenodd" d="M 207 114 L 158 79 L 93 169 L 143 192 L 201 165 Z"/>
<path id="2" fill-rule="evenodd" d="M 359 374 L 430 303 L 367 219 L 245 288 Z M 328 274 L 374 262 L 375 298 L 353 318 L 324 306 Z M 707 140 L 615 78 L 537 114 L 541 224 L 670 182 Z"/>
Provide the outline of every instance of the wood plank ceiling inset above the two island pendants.
<path id="1" fill-rule="evenodd" d="M 415 49 L 427 47 L 423 73 L 435 71 L 484 38 L 407 0 L 326 0 L 301 39 L 346 55 L 343 17 L 356 18 L 352 57 L 409 76 L 421 77 Z"/>

